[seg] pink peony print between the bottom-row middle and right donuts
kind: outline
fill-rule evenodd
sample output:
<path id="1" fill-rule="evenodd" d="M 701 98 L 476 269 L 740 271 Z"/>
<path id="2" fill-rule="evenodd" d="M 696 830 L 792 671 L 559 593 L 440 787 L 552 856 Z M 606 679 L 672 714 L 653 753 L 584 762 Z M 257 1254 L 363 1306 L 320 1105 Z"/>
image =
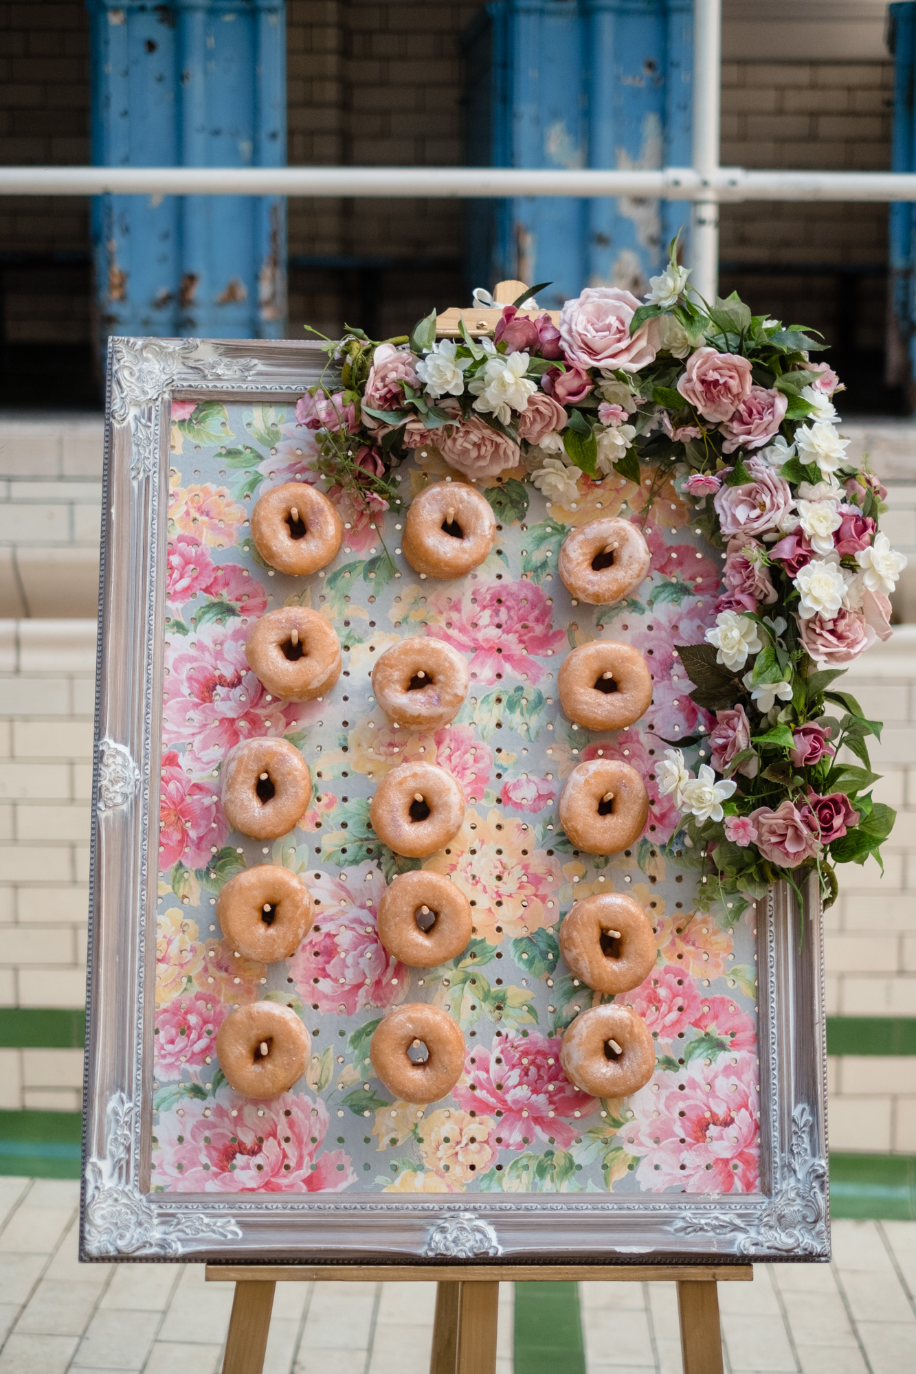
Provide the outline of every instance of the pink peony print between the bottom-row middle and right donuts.
<path id="1" fill-rule="evenodd" d="M 582 1127 L 563 1117 L 587 1117 L 597 1098 L 580 1092 L 560 1068 L 561 1037 L 539 1030 L 508 1032 L 486 1050 L 468 1052 L 465 1072 L 452 1092 L 465 1112 L 497 1118 L 495 1145 L 523 1150 L 535 1139 L 567 1150 Z"/>

